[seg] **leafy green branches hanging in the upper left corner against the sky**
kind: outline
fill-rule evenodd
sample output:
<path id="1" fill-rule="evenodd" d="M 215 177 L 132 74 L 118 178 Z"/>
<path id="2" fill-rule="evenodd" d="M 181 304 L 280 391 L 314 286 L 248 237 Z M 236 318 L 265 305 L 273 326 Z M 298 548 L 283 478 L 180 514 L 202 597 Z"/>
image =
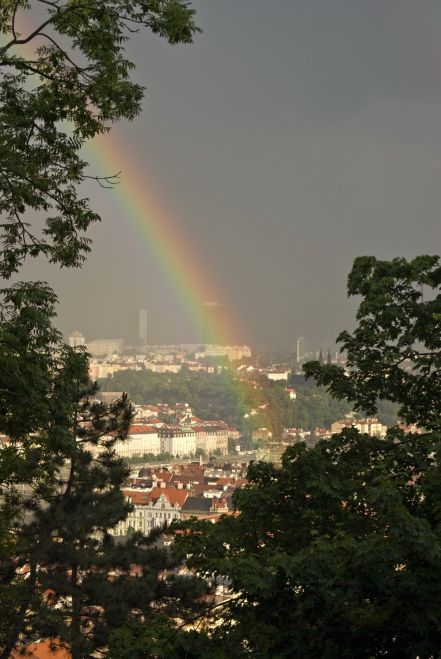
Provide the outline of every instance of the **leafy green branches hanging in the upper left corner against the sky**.
<path id="1" fill-rule="evenodd" d="M 17 25 L 31 2 L 0 8 L 3 277 L 26 257 L 81 264 L 90 250 L 86 230 L 99 220 L 79 194 L 91 178 L 81 148 L 140 111 L 143 89 L 130 79 L 126 42 L 148 28 L 170 44 L 190 43 L 198 30 L 186 0 L 35 0 L 32 7 L 39 12 L 27 12 L 24 33 Z M 109 174 L 102 184 L 116 182 L 117 172 Z M 44 219 L 42 231 L 31 214 Z"/>

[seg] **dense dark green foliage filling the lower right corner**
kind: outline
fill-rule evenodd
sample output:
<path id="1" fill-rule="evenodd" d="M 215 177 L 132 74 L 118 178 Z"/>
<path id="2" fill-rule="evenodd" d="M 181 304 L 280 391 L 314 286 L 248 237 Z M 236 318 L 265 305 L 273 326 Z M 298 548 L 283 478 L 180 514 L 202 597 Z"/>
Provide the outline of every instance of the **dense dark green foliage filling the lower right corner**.
<path id="1" fill-rule="evenodd" d="M 440 458 L 438 435 L 349 430 L 251 466 L 240 515 L 179 540 L 237 593 L 219 612 L 230 656 L 437 656 Z"/>

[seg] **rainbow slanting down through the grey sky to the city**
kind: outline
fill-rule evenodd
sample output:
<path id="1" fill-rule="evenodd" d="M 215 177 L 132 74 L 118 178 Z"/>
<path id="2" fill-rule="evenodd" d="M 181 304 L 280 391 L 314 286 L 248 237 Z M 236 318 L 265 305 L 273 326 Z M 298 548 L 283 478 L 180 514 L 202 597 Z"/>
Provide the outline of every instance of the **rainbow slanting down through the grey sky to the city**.
<path id="1" fill-rule="evenodd" d="M 0 39 L 5 40 L 3 36 Z M 27 57 L 35 56 L 38 43 L 21 45 Z M 146 258 L 156 265 L 158 276 L 168 285 L 174 299 L 182 308 L 187 325 L 198 328 L 198 342 L 202 339 L 202 323 L 206 343 L 234 345 L 243 332 L 231 315 L 205 314 L 204 304 L 215 300 L 221 305 L 226 299 L 219 286 L 214 286 L 209 267 L 200 254 L 191 249 L 188 238 L 179 231 L 173 214 L 167 211 L 163 195 L 153 190 L 148 172 L 131 145 L 118 140 L 115 129 L 85 144 L 85 160 L 98 171 L 92 175 L 108 176 L 120 173 L 113 194 L 121 216 L 133 234 L 141 241 Z M 140 175 L 142 172 L 142 176 Z M 112 193 L 110 193 L 112 194 Z M 98 214 L 104 214 L 98 209 Z M 185 326 L 185 322 L 183 323 Z"/>

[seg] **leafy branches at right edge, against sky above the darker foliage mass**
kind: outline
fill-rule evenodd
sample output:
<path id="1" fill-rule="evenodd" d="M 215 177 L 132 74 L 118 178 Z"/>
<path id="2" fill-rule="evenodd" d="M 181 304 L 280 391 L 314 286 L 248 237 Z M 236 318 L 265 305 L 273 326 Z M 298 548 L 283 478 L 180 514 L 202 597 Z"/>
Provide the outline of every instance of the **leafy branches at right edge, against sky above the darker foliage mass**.
<path id="1" fill-rule="evenodd" d="M 378 399 L 399 406 L 399 416 L 428 430 L 441 428 L 441 266 L 437 256 L 355 260 L 348 294 L 361 295 L 358 326 L 338 337 L 343 368 L 305 365 L 308 377 L 356 409 L 374 414 Z"/>

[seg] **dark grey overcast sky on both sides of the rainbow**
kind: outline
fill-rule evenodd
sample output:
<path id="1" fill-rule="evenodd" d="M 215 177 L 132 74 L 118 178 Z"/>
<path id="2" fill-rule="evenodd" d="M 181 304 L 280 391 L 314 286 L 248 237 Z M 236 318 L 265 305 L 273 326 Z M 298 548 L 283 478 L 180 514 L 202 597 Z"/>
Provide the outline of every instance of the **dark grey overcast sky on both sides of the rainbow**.
<path id="1" fill-rule="evenodd" d="M 220 282 L 239 341 L 332 339 L 354 324 L 357 255 L 440 249 L 439 0 L 193 4 L 194 45 L 131 44 L 146 98 L 118 139 Z M 128 339 L 146 307 L 152 341 L 185 340 L 192 319 L 164 273 L 89 192 L 103 223 L 87 266 L 26 270 L 54 284 L 61 329 Z"/>

